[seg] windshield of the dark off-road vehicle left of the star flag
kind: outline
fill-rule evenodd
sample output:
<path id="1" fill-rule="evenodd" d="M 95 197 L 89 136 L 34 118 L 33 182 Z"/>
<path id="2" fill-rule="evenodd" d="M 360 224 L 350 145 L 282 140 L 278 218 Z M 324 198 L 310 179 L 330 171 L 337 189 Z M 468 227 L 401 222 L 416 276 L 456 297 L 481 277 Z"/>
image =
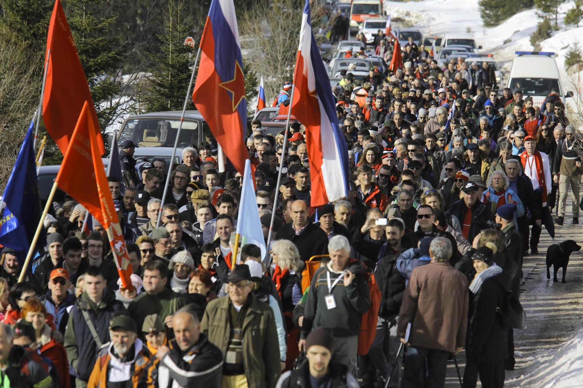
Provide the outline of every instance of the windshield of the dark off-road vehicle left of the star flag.
<path id="1" fill-rule="evenodd" d="M 125 123 L 118 141 L 132 140 L 142 147 L 174 147 L 180 119 L 175 118 L 142 118 L 132 119 Z M 203 133 L 210 134 L 208 124 L 202 123 Z M 198 144 L 199 120 L 184 120 L 178 144 Z M 203 138 L 202 141 L 205 141 Z"/>

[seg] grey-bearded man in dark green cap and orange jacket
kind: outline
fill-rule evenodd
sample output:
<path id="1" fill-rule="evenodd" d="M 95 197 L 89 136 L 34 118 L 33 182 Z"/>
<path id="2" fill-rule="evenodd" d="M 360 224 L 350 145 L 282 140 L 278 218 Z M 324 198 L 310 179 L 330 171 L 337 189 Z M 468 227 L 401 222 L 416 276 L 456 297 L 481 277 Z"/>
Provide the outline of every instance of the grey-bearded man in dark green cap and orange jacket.
<path id="1" fill-rule="evenodd" d="M 125 312 L 111 319 L 109 329 L 111 341 L 99 351 L 87 388 L 136 387 L 152 354 L 138 338 L 136 321 Z"/>

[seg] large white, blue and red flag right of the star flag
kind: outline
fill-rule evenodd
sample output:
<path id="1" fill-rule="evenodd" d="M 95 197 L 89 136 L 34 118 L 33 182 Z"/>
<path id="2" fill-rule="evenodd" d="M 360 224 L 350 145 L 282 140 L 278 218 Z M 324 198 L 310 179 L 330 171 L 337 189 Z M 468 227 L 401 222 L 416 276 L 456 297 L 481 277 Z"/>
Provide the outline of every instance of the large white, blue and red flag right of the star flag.
<path id="1" fill-rule="evenodd" d="M 301 19 L 291 112 L 306 127 L 311 205 L 318 207 L 348 195 L 348 148 L 338 126 L 330 80 L 312 33 L 310 2 Z"/>

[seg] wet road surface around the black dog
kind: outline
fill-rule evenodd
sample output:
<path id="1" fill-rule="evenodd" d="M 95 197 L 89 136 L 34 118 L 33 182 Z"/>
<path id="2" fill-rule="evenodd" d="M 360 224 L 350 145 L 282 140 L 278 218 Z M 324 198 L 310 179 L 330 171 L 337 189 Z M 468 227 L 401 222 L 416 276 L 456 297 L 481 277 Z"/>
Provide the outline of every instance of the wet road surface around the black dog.
<path id="1" fill-rule="evenodd" d="M 570 200 L 568 200 L 570 202 Z M 563 226 L 556 225 L 556 240 L 583 241 L 583 225 L 571 225 L 570 205 Z M 540 379 L 532 367 L 535 359 L 553 354 L 583 326 L 583 250 L 574 252 L 567 267 L 567 283 L 546 278 L 546 248 L 554 241 L 543 230 L 538 255 L 524 258 L 521 286 L 521 303 L 526 311 L 527 328 L 515 330 L 515 348 L 522 354 L 516 357 L 514 371 L 506 371 L 505 387 L 540 387 Z M 458 365 L 463 377 L 465 355 L 458 355 Z M 558 365 L 557 365 L 558 367 Z M 583 378 L 582 378 L 583 381 Z M 453 362 L 448 364 L 446 385 L 459 387 Z M 478 383 L 478 386 L 479 383 Z M 583 383 L 582 383 L 583 386 Z"/>

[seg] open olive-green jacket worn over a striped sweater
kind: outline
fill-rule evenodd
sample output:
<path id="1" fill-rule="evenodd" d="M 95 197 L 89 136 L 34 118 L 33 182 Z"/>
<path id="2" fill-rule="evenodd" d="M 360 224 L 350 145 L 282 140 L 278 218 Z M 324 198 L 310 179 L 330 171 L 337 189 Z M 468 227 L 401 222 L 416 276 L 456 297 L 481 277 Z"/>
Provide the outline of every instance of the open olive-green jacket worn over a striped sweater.
<path id="1" fill-rule="evenodd" d="M 251 299 L 243 322 L 243 364 L 249 388 L 273 388 L 281 374 L 278 332 L 273 310 L 249 294 Z M 210 301 L 202 317 L 201 331 L 227 353 L 230 334 L 229 296 Z"/>

